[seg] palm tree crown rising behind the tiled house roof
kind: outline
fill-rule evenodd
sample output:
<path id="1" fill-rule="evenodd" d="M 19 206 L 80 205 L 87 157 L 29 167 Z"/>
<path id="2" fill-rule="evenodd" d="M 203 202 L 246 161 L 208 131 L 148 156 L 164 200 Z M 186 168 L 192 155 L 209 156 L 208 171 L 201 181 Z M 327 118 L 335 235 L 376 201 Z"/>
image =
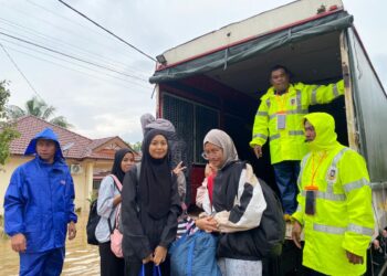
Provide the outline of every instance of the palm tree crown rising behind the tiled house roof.
<path id="1" fill-rule="evenodd" d="M 72 125 L 67 123 L 66 118 L 64 118 L 63 116 L 57 116 L 50 119 L 50 117 L 54 115 L 55 107 L 49 106 L 43 99 L 39 99 L 36 96 L 25 102 L 25 109 L 22 109 L 21 107 L 15 105 L 10 105 L 7 108 L 7 112 L 8 116 L 11 119 L 18 119 L 27 115 L 33 115 L 38 118 L 48 120 L 51 124 L 63 128 L 72 127 Z"/>

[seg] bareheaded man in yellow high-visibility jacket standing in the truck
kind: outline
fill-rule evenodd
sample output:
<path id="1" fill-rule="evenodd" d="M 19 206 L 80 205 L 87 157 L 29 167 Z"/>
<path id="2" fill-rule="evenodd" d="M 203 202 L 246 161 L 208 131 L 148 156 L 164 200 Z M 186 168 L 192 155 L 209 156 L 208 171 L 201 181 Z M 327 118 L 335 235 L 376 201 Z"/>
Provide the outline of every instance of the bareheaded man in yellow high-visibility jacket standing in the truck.
<path id="1" fill-rule="evenodd" d="M 310 105 L 327 104 L 344 94 L 344 82 L 330 85 L 290 84 L 291 73 L 282 65 L 271 70 L 270 87 L 261 97 L 250 146 L 257 158 L 269 139 L 271 163 L 280 190 L 284 219 L 296 209 L 300 160 L 306 155 L 302 118 Z"/>

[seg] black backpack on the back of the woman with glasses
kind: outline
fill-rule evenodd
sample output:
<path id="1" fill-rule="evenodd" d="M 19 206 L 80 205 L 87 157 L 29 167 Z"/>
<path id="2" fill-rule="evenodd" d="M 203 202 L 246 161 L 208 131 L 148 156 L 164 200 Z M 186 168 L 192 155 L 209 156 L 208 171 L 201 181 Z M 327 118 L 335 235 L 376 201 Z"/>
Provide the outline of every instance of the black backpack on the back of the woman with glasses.
<path id="1" fill-rule="evenodd" d="M 280 256 L 285 241 L 286 224 L 282 205 L 274 191 L 260 179 L 266 210 L 263 211 L 260 226 L 253 230 L 253 240 L 262 258 Z"/>

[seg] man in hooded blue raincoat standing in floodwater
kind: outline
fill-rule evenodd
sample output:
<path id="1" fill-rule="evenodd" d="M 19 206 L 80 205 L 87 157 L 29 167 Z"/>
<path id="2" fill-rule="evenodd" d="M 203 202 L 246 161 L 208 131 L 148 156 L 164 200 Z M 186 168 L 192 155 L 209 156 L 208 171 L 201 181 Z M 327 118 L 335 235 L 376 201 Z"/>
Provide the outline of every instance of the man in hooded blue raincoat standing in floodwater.
<path id="1" fill-rule="evenodd" d="M 35 158 L 19 166 L 4 198 L 6 233 L 20 255 L 20 275 L 60 275 L 65 236 L 76 235 L 74 184 L 55 132 L 38 134 L 24 155 Z"/>

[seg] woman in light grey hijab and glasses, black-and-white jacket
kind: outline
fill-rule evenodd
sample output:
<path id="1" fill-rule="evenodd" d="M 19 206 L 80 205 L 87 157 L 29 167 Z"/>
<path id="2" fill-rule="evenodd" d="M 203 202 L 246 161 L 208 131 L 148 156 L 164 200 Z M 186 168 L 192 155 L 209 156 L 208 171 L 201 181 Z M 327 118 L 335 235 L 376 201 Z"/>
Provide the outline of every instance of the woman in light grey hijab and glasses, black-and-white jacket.
<path id="1" fill-rule="evenodd" d="M 229 135 L 210 130 L 203 140 L 203 158 L 216 170 L 202 202 L 212 213 L 198 219 L 199 229 L 219 233 L 218 265 L 223 276 L 262 275 L 253 231 L 266 209 L 261 185 L 249 163 L 240 161 Z"/>

